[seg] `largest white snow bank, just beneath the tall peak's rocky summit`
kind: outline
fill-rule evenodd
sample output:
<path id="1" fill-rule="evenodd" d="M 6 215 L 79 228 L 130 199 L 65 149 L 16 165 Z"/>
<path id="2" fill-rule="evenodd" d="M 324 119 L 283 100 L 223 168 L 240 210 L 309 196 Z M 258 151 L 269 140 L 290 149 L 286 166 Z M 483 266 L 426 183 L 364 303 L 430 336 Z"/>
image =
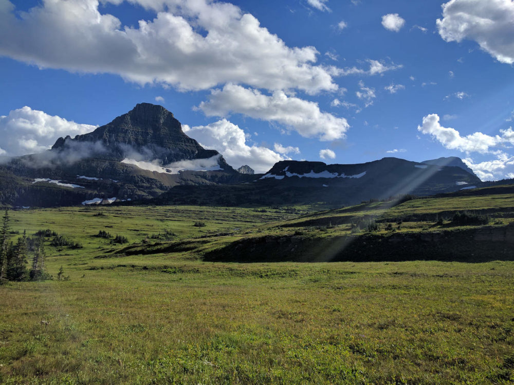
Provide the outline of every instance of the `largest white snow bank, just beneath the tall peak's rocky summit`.
<path id="1" fill-rule="evenodd" d="M 173 162 L 168 165 L 162 165 L 161 161 L 154 160 L 148 161 L 137 161 L 135 159 L 125 158 L 121 163 L 132 164 L 143 170 L 161 172 L 164 174 L 178 174 L 180 171 L 218 171 L 222 170 L 219 167 L 218 160 L 221 155 L 214 155 L 211 158 L 204 159 L 193 159 L 189 161 Z M 114 181 L 113 181 L 114 182 Z"/>

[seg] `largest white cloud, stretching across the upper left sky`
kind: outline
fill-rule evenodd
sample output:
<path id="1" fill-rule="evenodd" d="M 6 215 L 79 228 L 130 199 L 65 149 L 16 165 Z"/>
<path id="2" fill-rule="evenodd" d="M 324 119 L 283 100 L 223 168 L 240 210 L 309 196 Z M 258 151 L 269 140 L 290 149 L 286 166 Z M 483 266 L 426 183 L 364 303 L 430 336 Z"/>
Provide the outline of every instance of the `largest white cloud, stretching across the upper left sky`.
<path id="1" fill-rule="evenodd" d="M 313 94 L 338 88 L 327 69 L 315 64 L 315 47 L 287 46 L 230 3 L 130 0 L 155 14 L 137 26 L 101 13 L 98 0 L 38 3 L 20 12 L 8 0 L 0 1 L 0 55 L 41 68 L 116 74 L 180 90 L 226 82 Z"/>

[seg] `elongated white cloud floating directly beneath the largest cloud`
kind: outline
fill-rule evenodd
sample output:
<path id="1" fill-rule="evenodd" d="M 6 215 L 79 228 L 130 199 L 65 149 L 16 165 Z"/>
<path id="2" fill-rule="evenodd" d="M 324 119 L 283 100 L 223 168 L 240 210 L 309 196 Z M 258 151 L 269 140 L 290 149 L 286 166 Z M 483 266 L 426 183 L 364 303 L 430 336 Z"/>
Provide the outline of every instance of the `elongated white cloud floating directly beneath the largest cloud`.
<path id="1" fill-rule="evenodd" d="M 287 96 L 283 91 L 265 95 L 230 83 L 223 89 L 212 90 L 209 101 L 201 102 L 198 108 L 207 116 L 236 113 L 277 122 L 304 137 L 318 137 L 321 141 L 343 138 L 350 128 L 345 118 L 321 111 L 316 102 Z"/>

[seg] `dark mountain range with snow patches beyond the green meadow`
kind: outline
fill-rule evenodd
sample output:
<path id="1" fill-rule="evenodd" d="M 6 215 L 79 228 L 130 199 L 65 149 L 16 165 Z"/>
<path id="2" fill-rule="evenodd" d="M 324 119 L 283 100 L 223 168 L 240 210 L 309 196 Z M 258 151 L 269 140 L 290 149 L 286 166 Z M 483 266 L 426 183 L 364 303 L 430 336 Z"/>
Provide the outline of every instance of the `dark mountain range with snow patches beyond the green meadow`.
<path id="1" fill-rule="evenodd" d="M 350 165 L 282 161 L 265 174 L 237 170 L 187 136 L 161 106 L 140 103 L 105 126 L 59 138 L 51 150 L 0 164 L 0 204 L 189 203 L 270 205 L 358 203 L 481 186 L 458 158 L 397 158 Z"/>

